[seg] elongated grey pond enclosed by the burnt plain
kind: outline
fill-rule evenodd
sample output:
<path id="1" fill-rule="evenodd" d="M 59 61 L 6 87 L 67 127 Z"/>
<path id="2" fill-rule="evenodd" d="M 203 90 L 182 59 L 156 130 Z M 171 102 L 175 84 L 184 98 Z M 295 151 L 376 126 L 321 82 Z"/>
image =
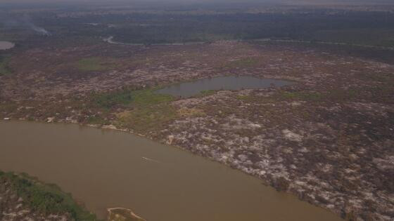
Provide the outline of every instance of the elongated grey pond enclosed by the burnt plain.
<path id="1" fill-rule="evenodd" d="M 269 88 L 270 86 L 286 86 L 294 82 L 277 79 L 260 79 L 254 76 L 218 76 L 210 79 L 174 84 L 162 88 L 157 93 L 170 94 L 176 97 L 189 98 L 201 91 L 209 90 L 241 90 Z"/>

